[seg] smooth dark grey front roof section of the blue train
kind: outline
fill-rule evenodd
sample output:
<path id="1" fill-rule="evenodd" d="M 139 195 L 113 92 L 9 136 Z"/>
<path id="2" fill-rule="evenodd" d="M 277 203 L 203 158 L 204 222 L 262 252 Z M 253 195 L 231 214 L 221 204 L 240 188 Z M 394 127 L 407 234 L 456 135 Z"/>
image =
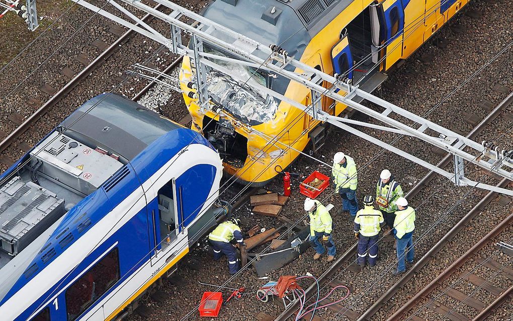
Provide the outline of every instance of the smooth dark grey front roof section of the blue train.
<path id="1" fill-rule="evenodd" d="M 181 128 L 123 96 L 104 93 L 80 106 L 60 127 L 130 161 L 168 131 Z"/>

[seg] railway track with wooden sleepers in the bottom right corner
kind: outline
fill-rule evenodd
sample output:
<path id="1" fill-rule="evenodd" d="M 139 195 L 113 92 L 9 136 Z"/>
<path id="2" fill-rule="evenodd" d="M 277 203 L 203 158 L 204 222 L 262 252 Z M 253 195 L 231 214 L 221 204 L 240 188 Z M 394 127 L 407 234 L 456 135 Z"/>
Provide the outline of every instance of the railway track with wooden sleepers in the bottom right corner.
<path id="1" fill-rule="evenodd" d="M 498 262 L 500 250 L 494 251 L 488 255 L 483 248 L 493 248 L 497 241 L 511 241 L 511 224 L 513 223 L 513 212 L 502 220 L 496 227 L 474 244 L 467 252 L 453 262 L 444 272 L 433 279 L 424 289 L 413 296 L 405 305 L 390 316 L 389 320 L 414 320 L 418 321 L 427 318 L 447 318 L 455 321 L 465 320 L 484 320 L 492 311 L 497 309 L 504 301 L 513 294 L 513 285 L 509 287 L 513 280 L 513 256 L 512 253 L 506 253 L 503 263 Z M 504 232 L 509 229 L 509 233 Z M 505 262 L 504 262 L 505 261 Z M 479 268 L 489 269 L 487 276 L 500 276 L 494 281 L 489 281 L 477 274 Z M 445 280 L 456 278 L 456 281 L 446 285 Z M 490 277 L 491 278 L 491 277 Z M 462 280 L 468 280 L 474 285 L 475 289 L 471 293 L 463 293 L 457 289 L 457 285 Z M 491 294 L 495 299 L 490 304 L 485 304 L 476 296 L 484 290 Z M 438 295 L 430 295 L 432 292 L 438 292 Z M 443 296 L 453 299 L 453 306 L 445 306 L 439 301 Z M 426 302 L 427 301 L 427 302 Z M 456 311 L 462 305 L 468 309 L 466 315 Z M 427 308 L 427 309 L 426 309 Z M 423 311 L 422 318 L 418 316 Z M 413 312 L 413 313 L 410 313 Z"/>

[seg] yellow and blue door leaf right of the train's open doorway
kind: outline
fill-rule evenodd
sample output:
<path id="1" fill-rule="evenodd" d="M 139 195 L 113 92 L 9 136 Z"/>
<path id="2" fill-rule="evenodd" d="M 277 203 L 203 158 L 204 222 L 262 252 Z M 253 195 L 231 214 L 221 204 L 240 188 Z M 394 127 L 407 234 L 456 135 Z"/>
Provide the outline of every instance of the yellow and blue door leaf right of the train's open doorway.
<path id="1" fill-rule="evenodd" d="M 401 0 L 385 0 L 382 5 L 386 24 L 387 70 L 403 55 L 404 9 Z"/>

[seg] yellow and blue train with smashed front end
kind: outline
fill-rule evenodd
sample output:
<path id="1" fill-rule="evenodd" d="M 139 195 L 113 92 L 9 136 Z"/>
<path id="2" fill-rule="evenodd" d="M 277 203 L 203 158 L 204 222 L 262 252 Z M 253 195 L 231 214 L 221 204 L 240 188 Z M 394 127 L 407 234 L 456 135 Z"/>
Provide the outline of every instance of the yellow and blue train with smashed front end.
<path id="1" fill-rule="evenodd" d="M 289 56 L 326 73 L 344 74 L 370 92 L 386 80 L 385 72 L 408 58 L 467 2 L 216 0 L 202 14 L 262 44 L 279 45 Z M 228 55 L 208 44 L 205 50 Z M 277 175 L 275 168 L 286 168 L 310 141 L 314 151 L 323 144 L 323 123 L 259 92 L 252 84 L 265 85 L 309 105 L 312 93 L 306 87 L 260 69 L 218 63 L 248 79 L 241 88 L 226 75 L 210 70 L 207 83 L 211 103 L 221 106 L 222 113 L 199 107 L 191 86 L 194 65 L 187 57 L 180 80 L 192 128 L 202 131 L 219 150 L 228 174 L 263 185 Z M 319 103 L 333 115 L 346 108 L 325 97 Z M 269 146 L 272 138 L 275 141 Z"/>

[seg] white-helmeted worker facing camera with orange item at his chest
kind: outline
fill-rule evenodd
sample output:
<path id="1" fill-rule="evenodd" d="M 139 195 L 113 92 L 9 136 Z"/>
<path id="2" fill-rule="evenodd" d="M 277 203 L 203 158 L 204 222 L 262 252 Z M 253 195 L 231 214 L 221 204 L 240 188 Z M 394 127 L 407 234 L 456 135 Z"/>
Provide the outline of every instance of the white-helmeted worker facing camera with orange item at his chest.
<path id="1" fill-rule="evenodd" d="M 378 184 L 376 184 L 376 203 L 383 214 L 388 227 L 393 229 L 393 221 L 396 218 L 397 200 L 404 196 L 403 188 L 394 180 L 388 169 L 383 169 Z"/>

